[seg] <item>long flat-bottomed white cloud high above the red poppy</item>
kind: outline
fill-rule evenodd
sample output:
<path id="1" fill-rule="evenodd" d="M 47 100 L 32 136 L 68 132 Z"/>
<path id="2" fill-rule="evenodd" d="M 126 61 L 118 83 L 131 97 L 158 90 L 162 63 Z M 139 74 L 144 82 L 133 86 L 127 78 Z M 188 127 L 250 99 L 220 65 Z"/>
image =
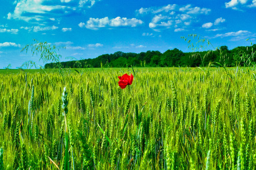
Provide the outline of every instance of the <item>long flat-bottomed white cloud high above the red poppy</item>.
<path id="1" fill-rule="evenodd" d="M 86 25 L 84 23 L 80 23 L 78 26 L 80 27 L 86 27 L 88 29 L 93 29 L 97 30 L 102 27 L 118 27 L 118 26 L 131 26 L 135 27 L 138 25 L 141 25 L 143 22 L 142 20 L 132 18 L 132 19 L 127 19 L 126 17 L 116 17 L 113 19 L 109 19 L 108 17 L 104 18 L 90 18 L 87 22 Z"/>

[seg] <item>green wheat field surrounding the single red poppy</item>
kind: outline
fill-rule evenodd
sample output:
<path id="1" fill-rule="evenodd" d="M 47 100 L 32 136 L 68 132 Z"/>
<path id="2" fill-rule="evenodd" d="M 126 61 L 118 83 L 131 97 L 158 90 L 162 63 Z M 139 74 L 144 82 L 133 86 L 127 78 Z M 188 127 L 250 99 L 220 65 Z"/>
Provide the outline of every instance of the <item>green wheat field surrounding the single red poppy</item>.
<path id="1" fill-rule="evenodd" d="M 121 89 L 118 76 L 125 73 L 134 80 Z M 253 68 L 78 68 L 62 76 L 58 69 L 0 69 L 0 167 L 256 169 L 255 74 Z"/>

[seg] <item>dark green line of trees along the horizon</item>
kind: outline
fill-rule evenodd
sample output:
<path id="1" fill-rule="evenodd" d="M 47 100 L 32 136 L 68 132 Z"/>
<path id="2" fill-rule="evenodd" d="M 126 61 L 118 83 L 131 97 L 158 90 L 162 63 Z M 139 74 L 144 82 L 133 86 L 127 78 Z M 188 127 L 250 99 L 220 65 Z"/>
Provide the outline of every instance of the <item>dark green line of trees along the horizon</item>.
<path id="1" fill-rule="evenodd" d="M 107 67 L 203 67 L 218 62 L 225 67 L 253 66 L 256 64 L 256 44 L 239 46 L 228 50 L 221 46 L 214 51 L 182 52 L 177 48 L 141 53 L 117 51 L 103 54 L 95 59 L 82 59 L 61 62 L 63 68 L 107 68 Z M 55 68 L 57 63 L 47 63 L 45 68 Z"/>

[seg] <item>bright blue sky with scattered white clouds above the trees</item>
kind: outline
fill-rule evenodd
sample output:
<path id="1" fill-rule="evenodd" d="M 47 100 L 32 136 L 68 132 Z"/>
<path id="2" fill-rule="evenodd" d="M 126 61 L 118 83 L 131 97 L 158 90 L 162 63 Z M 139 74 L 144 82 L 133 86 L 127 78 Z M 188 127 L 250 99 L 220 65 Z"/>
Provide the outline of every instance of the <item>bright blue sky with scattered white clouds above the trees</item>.
<path id="1" fill-rule="evenodd" d="M 1 0 L 0 68 L 38 56 L 33 39 L 57 46 L 62 61 L 123 52 L 191 51 L 180 36 L 200 34 L 214 47 L 256 43 L 256 0 Z M 209 48 L 210 49 L 210 48 Z"/>

